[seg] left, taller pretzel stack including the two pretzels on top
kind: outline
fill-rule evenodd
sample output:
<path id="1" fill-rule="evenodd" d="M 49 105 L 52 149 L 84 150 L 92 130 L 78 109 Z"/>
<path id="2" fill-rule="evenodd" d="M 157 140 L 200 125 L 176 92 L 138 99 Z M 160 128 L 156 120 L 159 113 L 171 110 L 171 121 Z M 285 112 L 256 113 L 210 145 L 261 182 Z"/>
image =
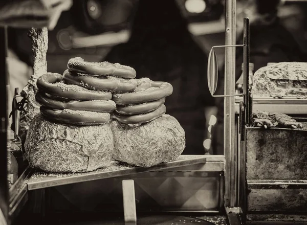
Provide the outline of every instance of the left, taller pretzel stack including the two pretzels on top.
<path id="1" fill-rule="evenodd" d="M 36 101 L 41 105 L 41 114 L 53 121 L 74 125 L 107 123 L 116 108 L 112 92 L 133 91 L 137 82 L 124 78 L 135 76 L 135 70 L 128 66 L 73 58 L 63 76 L 47 73 L 38 78 Z"/>

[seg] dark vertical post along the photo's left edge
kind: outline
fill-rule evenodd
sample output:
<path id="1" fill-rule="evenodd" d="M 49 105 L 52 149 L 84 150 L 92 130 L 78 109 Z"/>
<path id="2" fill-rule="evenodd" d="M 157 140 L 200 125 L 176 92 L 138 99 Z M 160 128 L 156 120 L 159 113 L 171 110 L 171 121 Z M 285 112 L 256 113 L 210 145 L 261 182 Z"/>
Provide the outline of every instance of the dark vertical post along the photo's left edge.
<path id="1" fill-rule="evenodd" d="M 0 208 L 8 221 L 9 187 L 7 178 L 7 127 L 8 127 L 8 73 L 7 73 L 7 28 L 0 28 Z"/>

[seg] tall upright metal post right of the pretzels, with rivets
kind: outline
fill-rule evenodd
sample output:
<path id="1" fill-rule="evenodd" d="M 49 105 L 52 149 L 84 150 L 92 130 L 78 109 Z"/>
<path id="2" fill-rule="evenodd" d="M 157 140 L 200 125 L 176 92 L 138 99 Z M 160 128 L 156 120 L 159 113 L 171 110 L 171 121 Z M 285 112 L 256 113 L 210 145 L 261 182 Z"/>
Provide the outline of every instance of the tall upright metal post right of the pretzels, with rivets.
<path id="1" fill-rule="evenodd" d="M 235 39 L 236 1 L 226 1 L 226 45 Z M 235 47 L 225 50 L 225 95 L 233 95 L 235 87 Z M 234 135 L 234 97 L 224 99 L 225 206 L 235 207 L 237 195 L 237 154 Z"/>

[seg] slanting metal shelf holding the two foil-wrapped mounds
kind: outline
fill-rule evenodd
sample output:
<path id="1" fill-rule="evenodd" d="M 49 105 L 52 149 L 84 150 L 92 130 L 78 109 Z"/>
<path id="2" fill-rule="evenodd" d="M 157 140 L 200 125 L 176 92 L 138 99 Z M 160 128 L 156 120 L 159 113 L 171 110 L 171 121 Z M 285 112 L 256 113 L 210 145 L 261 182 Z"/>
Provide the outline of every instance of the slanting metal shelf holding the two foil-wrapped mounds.
<path id="1" fill-rule="evenodd" d="M 177 161 L 162 163 L 150 168 L 134 167 L 113 161 L 107 167 L 86 173 L 46 173 L 36 171 L 28 182 L 28 190 L 94 181 L 97 179 L 125 176 L 149 171 L 186 167 L 195 164 L 206 164 L 207 161 L 214 163 L 214 171 L 223 171 L 224 156 L 219 157 L 216 155 L 181 155 Z M 216 163 L 218 163 L 218 166 Z M 210 168 L 208 168 L 208 170 L 210 171 Z"/>

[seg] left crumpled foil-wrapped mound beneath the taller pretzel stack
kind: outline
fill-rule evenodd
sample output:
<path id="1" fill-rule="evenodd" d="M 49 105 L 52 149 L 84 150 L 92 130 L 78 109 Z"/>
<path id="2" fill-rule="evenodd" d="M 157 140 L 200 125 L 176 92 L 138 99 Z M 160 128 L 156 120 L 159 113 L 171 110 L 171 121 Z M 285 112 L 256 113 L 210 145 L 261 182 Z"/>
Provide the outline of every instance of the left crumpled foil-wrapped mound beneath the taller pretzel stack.
<path id="1" fill-rule="evenodd" d="M 36 115 L 27 133 L 30 166 L 47 172 L 87 172 L 108 165 L 114 150 L 109 124 L 71 126 Z"/>

